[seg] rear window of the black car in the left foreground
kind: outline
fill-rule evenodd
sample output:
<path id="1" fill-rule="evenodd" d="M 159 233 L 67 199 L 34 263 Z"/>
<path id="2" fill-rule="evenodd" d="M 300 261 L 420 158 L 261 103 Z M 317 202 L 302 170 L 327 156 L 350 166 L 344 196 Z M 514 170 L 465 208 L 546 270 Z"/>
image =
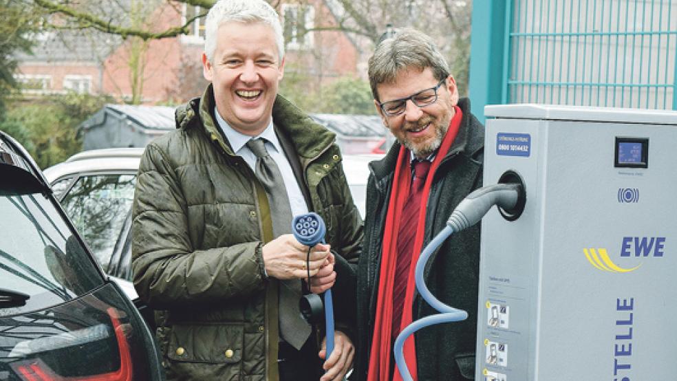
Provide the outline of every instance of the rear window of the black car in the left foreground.
<path id="1" fill-rule="evenodd" d="M 0 316 L 64 303 L 103 284 L 56 205 L 40 193 L 0 196 L 0 287 L 28 296 Z"/>

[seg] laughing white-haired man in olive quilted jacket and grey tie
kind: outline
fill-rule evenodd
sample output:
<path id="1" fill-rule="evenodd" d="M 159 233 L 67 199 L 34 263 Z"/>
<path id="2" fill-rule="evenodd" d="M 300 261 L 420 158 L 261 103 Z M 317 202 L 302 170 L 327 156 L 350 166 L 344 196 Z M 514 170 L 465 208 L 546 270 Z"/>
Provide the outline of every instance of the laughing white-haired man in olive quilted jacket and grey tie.
<path id="1" fill-rule="evenodd" d="M 341 380 L 363 230 L 335 136 L 277 94 L 283 39 L 265 1 L 218 1 L 202 63 L 211 84 L 147 146 L 133 207 L 134 285 L 157 310 L 167 377 Z M 289 234 L 309 211 L 327 224 L 312 249 Z M 309 276 L 336 290 L 328 359 L 322 327 L 299 321 Z"/>

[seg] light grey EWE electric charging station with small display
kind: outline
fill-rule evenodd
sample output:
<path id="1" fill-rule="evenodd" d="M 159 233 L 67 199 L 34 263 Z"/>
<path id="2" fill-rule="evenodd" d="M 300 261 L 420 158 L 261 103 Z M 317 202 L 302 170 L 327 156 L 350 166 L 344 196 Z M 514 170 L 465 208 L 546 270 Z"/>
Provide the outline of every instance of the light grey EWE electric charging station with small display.
<path id="1" fill-rule="evenodd" d="M 476 380 L 677 380 L 677 112 L 487 106 Z"/>

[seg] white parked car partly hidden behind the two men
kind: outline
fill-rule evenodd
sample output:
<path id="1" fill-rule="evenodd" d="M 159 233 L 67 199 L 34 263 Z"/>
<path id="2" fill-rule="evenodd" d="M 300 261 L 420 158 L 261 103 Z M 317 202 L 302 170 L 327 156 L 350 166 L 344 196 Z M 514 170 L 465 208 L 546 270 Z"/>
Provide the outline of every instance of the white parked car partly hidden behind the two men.
<path id="1" fill-rule="evenodd" d="M 131 204 L 143 149 L 96 149 L 45 169 L 47 182 L 103 270 L 131 280 Z M 383 155 L 344 155 L 343 170 L 364 217 L 367 164 Z M 132 298 L 133 287 L 127 287 Z"/>

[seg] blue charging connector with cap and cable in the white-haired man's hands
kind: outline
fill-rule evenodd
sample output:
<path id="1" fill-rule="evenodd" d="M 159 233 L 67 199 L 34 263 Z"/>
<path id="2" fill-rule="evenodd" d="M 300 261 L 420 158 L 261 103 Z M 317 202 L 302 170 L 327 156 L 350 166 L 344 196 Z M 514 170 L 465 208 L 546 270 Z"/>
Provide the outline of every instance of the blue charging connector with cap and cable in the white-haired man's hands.
<path id="1" fill-rule="evenodd" d="M 312 248 L 318 243 L 325 243 L 324 236 L 327 232 L 324 220 L 317 213 L 298 215 L 292 220 L 292 232 L 294 238 L 303 245 Z M 309 249 L 310 250 L 310 249 Z M 310 251 L 308 252 L 310 255 Z M 310 279 L 308 279 L 310 285 Z M 309 323 L 318 323 L 321 316 L 322 302 L 319 296 L 308 294 L 299 301 L 301 314 Z M 325 330 L 327 338 L 327 351 L 325 359 L 329 358 L 334 351 L 334 303 L 332 301 L 332 289 L 324 292 Z"/>

